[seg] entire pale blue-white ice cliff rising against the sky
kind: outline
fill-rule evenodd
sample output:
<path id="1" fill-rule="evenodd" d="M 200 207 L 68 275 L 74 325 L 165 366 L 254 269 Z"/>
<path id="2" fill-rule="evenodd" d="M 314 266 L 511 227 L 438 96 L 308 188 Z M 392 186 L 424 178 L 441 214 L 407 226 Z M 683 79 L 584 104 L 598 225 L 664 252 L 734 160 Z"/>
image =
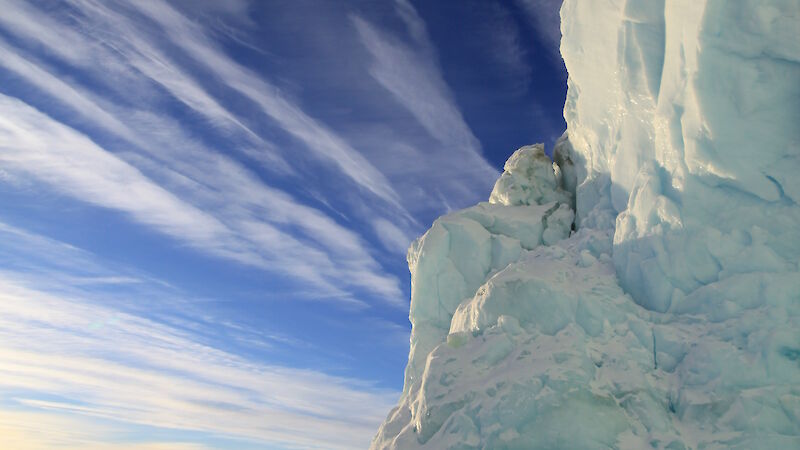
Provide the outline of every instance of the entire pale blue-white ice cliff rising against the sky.
<path id="1" fill-rule="evenodd" d="M 567 132 L 411 247 L 373 448 L 800 448 L 800 3 L 566 0 Z"/>

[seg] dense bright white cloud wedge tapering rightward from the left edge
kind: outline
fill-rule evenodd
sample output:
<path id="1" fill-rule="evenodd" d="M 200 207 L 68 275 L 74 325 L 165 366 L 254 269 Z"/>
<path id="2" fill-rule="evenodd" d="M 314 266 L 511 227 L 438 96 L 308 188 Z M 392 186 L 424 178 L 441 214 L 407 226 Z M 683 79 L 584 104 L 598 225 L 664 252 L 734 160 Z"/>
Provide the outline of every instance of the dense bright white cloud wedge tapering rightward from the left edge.
<path id="1" fill-rule="evenodd" d="M 0 95 L 0 161 L 89 202 L 191 241 L 214 241 L 224 225 L 181 202 L 138 170 L 25 103 Z"/>

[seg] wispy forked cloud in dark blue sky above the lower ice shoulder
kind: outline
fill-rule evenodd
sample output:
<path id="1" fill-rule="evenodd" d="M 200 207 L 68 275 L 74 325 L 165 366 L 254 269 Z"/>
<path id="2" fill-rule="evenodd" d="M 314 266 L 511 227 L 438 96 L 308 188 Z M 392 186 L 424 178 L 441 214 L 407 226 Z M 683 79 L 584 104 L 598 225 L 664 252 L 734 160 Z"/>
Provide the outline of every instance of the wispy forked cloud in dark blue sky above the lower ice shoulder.
<path id="1" fill-rule="evenodd" d="M 376 28 L 361 16 L 350 19 L 361 45 L 371 56 L 371 77 L 430 136 L 427 142 L 418 140 L 412 144 L 411 150 L 402 143 L 391 147 L 392 154 L 418 161 L 414 174 L 404 174 L 404 166 L 397 166 L 401 177 L 421 179 L 407 188 L 406 195 L 422 204 L 436 203 L 441 213 L 451 202 L 463 205 L 481 199 L 491 189 L 498 172 L 483 157 L 480 141 L 444 80 L 424 20 L 408 1 L 395 1 L 395 9 L 411 36 L 410 42 Z M 418 185 L 426 189 L 415 195 L 414 186 Z M 395 246 L 399 248 L 399 242 Z"/>

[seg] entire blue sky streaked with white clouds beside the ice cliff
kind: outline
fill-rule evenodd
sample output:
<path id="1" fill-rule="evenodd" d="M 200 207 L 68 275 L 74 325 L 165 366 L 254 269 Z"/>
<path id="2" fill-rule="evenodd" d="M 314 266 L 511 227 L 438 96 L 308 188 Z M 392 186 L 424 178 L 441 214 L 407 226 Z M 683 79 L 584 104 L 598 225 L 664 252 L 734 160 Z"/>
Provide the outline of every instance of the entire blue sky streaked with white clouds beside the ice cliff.
<path id="1" fill-rule="evenodd" d="M 0 0 L 0 435 L 365 448 L 406 249 L 565 128 L 558 1 Z"/>

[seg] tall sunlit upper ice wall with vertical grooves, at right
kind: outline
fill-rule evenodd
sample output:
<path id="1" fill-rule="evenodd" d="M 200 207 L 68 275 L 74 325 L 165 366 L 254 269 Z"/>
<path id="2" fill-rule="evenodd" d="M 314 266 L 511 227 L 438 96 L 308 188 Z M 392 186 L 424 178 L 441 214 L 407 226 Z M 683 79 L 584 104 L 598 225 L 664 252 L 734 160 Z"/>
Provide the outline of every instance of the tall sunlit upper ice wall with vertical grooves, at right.
<path id="1" fill-rule="evenodd" d="M 561 14 L 564 116 L 583 189 L 609 182 L 620 213 L 623 287 L 667 311 L 734 273 L 795 271 L 800 2 L 566 0 Z"/>

